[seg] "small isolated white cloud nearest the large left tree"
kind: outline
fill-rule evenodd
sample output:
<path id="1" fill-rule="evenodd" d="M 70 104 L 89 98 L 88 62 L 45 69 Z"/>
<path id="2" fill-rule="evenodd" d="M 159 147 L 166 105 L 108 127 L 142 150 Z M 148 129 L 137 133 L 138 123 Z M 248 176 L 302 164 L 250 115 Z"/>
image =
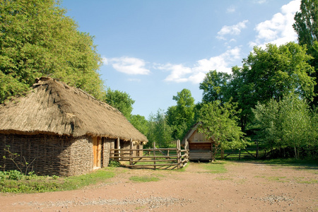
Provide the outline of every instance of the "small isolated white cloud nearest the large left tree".
<path id="1" fill-rule="evenodd" d="M 131 75 L 147 75 L 151 73 L 149 69 L 146 69 L 146 62 L 143 59 L 134 57 L 114 57 L 114 58 L 102 58 L 102 62 L 105 65 L 111 64 L 112 67 L 119 72 L 127 73 Z"/>

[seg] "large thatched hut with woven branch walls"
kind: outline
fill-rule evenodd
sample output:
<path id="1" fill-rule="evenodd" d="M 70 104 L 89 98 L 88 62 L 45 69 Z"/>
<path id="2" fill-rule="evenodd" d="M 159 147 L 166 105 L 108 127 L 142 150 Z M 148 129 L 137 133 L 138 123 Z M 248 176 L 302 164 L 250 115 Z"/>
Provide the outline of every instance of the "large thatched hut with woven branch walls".
<path id="1" fill-rule="evenodd" d="M 110 148 L 148 140 L 119 110 L 53 78 L 0 105 L 0 165 L 16 168 L 6 146 L 39 175 L 80 175 L 107 167 Z M 119 142 L 119 143 L 118 143 Z M 30 170 L 29 170 L 30 171 Z"/>

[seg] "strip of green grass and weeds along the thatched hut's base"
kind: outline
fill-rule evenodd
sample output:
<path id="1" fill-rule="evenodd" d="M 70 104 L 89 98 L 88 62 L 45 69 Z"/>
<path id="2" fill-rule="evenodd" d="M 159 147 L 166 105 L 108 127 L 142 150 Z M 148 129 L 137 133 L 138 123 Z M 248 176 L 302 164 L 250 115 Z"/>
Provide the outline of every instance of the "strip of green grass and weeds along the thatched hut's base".
<path id="1" fill-rule="evenodd" d="M 86 175 L 72 177 L 23 175 L 20 179 L 9 179 L 8 175 L 2 175 L 0 192 L 37 193 L 80 189 L 110 179 L 114 175 L 112 168 L 104 168 Z"/>

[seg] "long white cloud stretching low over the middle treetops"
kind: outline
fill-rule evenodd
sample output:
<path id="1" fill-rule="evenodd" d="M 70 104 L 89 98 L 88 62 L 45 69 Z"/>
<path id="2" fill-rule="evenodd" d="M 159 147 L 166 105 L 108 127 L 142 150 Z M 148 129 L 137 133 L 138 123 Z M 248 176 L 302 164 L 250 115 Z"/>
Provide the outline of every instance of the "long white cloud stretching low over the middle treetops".
<path id="1" fill-rule="evenodd" d="M 183 66 L 182 64 L 166 64 L 157 66 L 157 69 L 171 71 L 170 75 L 165 78 L 165 81 L 168 82 L 201 83 L 206 73 L 210 70 L 231 73 L 231 63 L 240 58 L 240 47 L 235 47 L 219 56 L 196 61 L 196 64 L 192 68 Z"/>

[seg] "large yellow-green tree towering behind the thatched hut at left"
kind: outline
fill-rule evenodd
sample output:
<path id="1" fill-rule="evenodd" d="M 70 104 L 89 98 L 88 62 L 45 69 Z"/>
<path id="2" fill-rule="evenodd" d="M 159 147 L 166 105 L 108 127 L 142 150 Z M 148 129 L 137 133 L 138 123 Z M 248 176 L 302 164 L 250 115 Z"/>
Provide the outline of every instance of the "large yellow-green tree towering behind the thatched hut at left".
<path id="1" fill-rule="evenodd" d="M 51 76 L 100 98 L 101 58 L 55 0 L 0 1 L 0 102 Z"/>

